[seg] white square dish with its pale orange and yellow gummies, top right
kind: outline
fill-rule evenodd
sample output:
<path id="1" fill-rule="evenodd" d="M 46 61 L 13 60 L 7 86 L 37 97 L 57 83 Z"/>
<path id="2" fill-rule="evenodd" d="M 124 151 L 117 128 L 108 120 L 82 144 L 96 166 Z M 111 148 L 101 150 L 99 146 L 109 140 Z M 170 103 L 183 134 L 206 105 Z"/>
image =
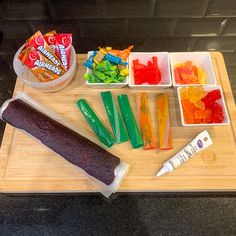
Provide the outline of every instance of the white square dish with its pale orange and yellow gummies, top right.
<path id="1" fill-rule="evenodd" d="M 174 87 L 216 84 L 208 52 L 170 53 L 170 65 Z"/>

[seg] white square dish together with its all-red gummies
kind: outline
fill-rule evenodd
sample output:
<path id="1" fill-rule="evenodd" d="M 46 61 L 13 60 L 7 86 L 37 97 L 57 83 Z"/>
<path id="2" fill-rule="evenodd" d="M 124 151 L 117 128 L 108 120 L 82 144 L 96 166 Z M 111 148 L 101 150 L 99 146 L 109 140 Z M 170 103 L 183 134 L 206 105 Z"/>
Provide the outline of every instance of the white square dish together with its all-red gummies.
<path id="1" fill-rule="evenodd" d="M 129 56 L 129 87 L 165 88 L 172 85 L 168 52 L 133 52 Z"/>

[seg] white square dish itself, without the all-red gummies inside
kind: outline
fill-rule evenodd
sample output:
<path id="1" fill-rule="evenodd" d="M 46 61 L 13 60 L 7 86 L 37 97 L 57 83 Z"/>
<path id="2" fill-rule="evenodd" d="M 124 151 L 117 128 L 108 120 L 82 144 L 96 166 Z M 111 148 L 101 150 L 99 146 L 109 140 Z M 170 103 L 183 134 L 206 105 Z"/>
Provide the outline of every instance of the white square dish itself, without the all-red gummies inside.
<path id="1" fill-rule="evenodd" d="M 139 59 L 140 63 L 147 65 L 148 61 L 152 61 L 152 57 L 156 56 L 158 59 L 158 67 L 161 72 L 161 82 L 159 84 L 135 84 L 133 74 L 133 60 Z M 168 88 L 172 85 L 170 75 L 170 61 L 168 52 L 131 52 L 129 55 L 129 87 L 130 88 L 145 88 L 158 89 Z"/>

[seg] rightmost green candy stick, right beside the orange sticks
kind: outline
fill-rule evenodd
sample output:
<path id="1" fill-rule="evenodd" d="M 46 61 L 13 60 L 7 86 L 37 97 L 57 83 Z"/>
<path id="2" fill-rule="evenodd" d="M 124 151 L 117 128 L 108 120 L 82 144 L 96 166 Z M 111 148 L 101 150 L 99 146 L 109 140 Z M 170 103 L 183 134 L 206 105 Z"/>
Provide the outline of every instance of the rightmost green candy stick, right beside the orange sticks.
<path id="1" fill-rule="evenodd" d="M 129 138 L 133 148 L 139 148 L 143 146 L 143 139 L 139 131 L 137 122 L 134 118 L 134 114 L 130 107 L 129 99 L 126 94 L 121 94 L 117 97 L 121 114 L 125 121 L 126 128 L 129 133 Z"/>

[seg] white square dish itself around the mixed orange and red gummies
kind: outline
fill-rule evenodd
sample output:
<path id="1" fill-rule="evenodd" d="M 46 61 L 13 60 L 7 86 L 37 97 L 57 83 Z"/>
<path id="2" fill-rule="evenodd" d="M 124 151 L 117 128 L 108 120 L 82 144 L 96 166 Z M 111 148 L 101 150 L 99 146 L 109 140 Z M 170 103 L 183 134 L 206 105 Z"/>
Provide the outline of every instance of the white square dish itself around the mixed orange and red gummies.
<path id="1" fill-rule="evenodd" d="M 221 86 L 217 86 L 217 85 L 208 85 L 208 86 L 202 86 L 203 89 L 207 92 L 212 91 L 214 89 L 219 89 L 220 93 L 221 93 L 221 99 L 217 100 L 216 102 L 219 103 L 222 108 L 223 108 L 223 112 L 224 112 L 224 121 L 222 123 L 203 123 L 203 124 L 186 124 L 184 121 L 184 113 L 183 113 L 183 108 L 182 108 L 182 104 L 181 104 L 181 98 L 180 98 L 180 91 L 185 87 L 178 87 L 177 88 L 177 94 L 178 94 L 178 101 L 179 101 L 179 108 L 180 108 L 180 116 L 181 116 L 181 124 L 182 126 L 216 126 L 216 125 L 229 125 L 230 124 L 230 119 L 229 119 L 229 115 L 228 115 L 228 111 L 225 105 L 225 100 L 224 100 L 224 95 L 223 95 L 223 91 Z M 190 86 L 188 86 L 190 87 Z M 198 86 L 199 87 L 199 86 Z"/>

